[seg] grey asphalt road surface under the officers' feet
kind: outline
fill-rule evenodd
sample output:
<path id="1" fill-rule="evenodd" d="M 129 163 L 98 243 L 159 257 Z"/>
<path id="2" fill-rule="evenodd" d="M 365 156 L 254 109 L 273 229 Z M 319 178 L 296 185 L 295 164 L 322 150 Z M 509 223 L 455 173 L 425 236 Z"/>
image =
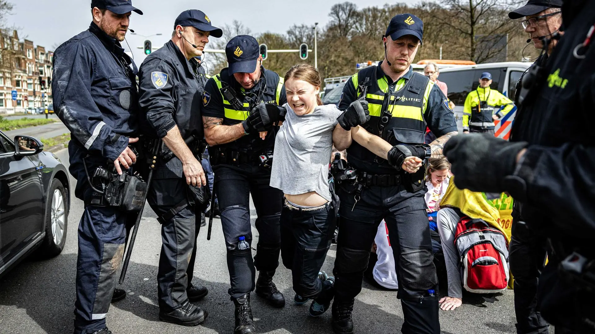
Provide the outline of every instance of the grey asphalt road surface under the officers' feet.
<path id="1" fill-rule="evenodd" d="M 57 155 L 62 162 L 68 163 L 66 150 Z M 74 187 L 74 179 L 71 182 Z M 62 254 L 49 260 L 27 259 L 0 279 L 0 333 L 73 332 L 77 227 L 83 203 L 74 196 L 71 200 L 67 241 Z M 253 208 L 251 217 L 255 219 Z M 159 322 L 156 274 L 161 247 L 160 227 L 155 213 L 146 206 L 129 272 L 122 286 L 129 294 L 109 309 L 107 322 L 114 334 L 233 333 L 234 308 L 227 294 L 226 249 L 220 226 L 220 220 L 215 219 L 211 241 L 206 241 L 206 231 L 201 231 L 198 240 L 194 283 L 209 288 L 209 294 L 197 303 L 208 310 L 208 319 L 197 327 Z M 258 238 L 255 228 L 252 232 Z M 333 245 L 323 270 L 331 272 L 335 255 L 336 245 Z M 287 304 L 279 310 L 262 303 L 254 295 L 252 308 L 258 333 L 332 333 L 330 311 L 319 318 L 312 318 L 307 316 L 308 304 L 296 306 L 290 303 L 294 292 L 289 270 L 280 266 L 274 281 L 286 296 Z M 516 332 L 512 291 L 499 295 L 493 304 L 468 303 L 469 300 L 464 300 L 461 308 L 440 312 L 443 333 Z M 353 320 L 357 334 L 399 333 L 403 315 L 396 292 L 380 291 L 364 283 L 361 294 L 356 298 Z"/>

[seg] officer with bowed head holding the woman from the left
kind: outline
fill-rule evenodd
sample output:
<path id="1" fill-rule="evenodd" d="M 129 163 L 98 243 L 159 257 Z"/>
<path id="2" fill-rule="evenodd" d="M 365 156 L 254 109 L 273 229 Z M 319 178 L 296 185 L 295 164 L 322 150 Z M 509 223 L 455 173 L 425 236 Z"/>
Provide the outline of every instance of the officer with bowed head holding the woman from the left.
<path id="1" fill-rule="evenodd" d="M 273 283 L 279 264 L 279 218 L 283 193 L 271 187 L 276 126 L 287 102 L 283 79 L 262 67 L 256 39 L 233 37 L 226 45 L 228 68 L 210 78 L 203 94 L 203 122 L 209 155 L 215 173 L 214 192 L 221 209 L 221 225 L 227 247 L 227 267 L 236 305 L 234 333 L 254 333 L 250 291 L 274 307 L 285 299 Z M 262 157 L 262 159 L 259 158 Z M 249 196 L 256 207 L 259 233 L 256 256 L 250 247 Z"/>

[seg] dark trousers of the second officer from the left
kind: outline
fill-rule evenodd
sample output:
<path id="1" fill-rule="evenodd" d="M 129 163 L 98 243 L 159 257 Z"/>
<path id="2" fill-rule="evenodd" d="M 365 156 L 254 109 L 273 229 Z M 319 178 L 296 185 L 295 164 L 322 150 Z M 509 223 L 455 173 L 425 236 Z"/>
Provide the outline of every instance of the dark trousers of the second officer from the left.
<path id="1" fill-rule="evenodd" d="M 148 203 L 158 216 L 168 212 L 187 196 L 186 178 L 153 179 Z M 161 225 L 161 254 L 157 272 L 159 308 L 172 310 L 188 300 L 196 257 L 197 222 L 192 207 L 186 207 Z M 193 251 L 194 250 L 194 251 Z"/>

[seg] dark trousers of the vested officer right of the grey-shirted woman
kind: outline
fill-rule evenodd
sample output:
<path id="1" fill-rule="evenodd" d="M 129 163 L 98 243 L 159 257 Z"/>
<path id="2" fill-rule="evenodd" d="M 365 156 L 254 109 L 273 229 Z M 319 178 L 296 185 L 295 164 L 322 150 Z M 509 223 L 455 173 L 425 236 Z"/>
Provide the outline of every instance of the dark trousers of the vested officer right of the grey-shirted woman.
<path id="1" fill-rule="evenodd" d="M 403 307 L 401 331 L 439 334 L 438 279 L 424 200 L 427 188 L 411 193 L 402 185 L 364 187 L 357 203 L 354 194 L 337 188 L 341 207 L 334 266 L 335 303 L 350 303 L 361 292 L 372 242 L 384 219 L 399 281 L 397 298 Z M 430 289 L 434 289 L 434 297 Z"/>

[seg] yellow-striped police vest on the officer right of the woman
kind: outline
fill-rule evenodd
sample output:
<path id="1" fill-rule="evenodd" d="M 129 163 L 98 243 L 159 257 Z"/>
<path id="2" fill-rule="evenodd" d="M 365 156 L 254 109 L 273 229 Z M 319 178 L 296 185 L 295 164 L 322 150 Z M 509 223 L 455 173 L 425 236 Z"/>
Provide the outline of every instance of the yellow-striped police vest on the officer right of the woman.
<path id="1" fill-rule="evenodd" d="M 371 134 L 381 136 L 391 144 L 423 143 L 426 128 L 424 114 L 433 82 L 425 75 L 412 73 L 411 78 L 400 78 L 394 83 L 393 93 L 389 94 L 386 78 L 377 78 L 376 67 L 364 68 L 352 76 L 357 98 L 362 89 L 366 92 L 370 120 L 363 127 Z M 365 78 L 369 78 L 368 81 Z M 364 88 L 364 83 L 368 87 Z M 383 116 L 383 105 L 391 117 L 380 133 L 379 122 Z"/>

